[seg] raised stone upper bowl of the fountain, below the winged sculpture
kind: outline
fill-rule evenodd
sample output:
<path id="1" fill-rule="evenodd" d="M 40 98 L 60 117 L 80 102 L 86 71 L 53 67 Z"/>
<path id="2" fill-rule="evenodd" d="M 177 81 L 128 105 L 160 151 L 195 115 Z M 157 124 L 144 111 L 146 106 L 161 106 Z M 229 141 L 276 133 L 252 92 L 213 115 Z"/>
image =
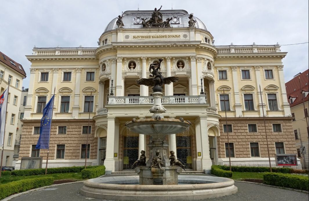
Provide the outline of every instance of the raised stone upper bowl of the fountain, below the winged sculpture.
<path id="1" fill-rule="evenodd" d="M 153 134 L 176 134 L 187 130 L 190 124 L 188 122 L 181 122 L 179 119 L 174 118 L 161 118 L 155 120 L 149 119 L 138 119 L 135 122 L 129 122 L 126 124 L 131 132 L 153 135 Z"/>

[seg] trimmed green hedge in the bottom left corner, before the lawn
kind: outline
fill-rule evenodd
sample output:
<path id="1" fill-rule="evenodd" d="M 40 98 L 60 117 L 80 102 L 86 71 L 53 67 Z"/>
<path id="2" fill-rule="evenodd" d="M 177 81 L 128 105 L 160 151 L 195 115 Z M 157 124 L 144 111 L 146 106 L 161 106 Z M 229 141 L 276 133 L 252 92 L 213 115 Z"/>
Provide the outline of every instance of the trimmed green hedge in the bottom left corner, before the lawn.
<path id="1" fill-rule="evenodd" d="M 53 182 L 53 177 L 39 177 L 32 179 L 22 179 L 19 181 L 1 184 L 0 199 L 6 198 L 7 196 L 13 195 L 15 193 L 24 192 L 42 186 L 49 186 L 52 185 Z"/>

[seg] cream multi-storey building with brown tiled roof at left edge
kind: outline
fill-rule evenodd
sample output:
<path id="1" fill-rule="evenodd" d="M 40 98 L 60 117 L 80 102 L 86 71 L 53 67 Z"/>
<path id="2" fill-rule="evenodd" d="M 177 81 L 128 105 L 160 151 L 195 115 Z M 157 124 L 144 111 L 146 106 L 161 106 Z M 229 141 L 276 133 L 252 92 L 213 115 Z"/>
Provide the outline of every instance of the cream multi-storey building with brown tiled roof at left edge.
<path id="1" fill-rule="evenodd" d="M 14 145 L 18 127 L 19 105 L 22 99 L 22 85 L 26 73 L 23 66 L 0 52 L 0 93 L 2 94 L 10 85 L 8 105 L 6 110 L 6 125 L 4 134 L 3 166 L 12 166 Z M 0 144 L 0 156 L 2 152 Z"/>

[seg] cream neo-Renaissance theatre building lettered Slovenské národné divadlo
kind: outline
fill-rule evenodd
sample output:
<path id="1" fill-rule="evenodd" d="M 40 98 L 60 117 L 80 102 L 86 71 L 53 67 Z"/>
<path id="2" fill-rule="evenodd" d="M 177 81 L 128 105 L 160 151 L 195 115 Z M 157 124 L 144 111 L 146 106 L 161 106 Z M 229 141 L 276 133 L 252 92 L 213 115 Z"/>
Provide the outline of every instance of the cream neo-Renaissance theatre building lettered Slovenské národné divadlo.
<path id="1" fill-rule="evenodd" d="M 33 48 L 20 157 L 45 162 L 47 150 L 34 145 L 54 88 L 50 167 L 83 165 L 87 135 L 89 164 L 125 171 L 141 150 L 149 157 L 149 136 L 128 132 L 125 123 L 151 117 L 151 88 L 135 81 L 148 78 L 149 65 L 160 58 L 163 75 L 180 79 L 163 89 L 164 116 L 192 122 L 188 131 L 166 138 L 187 169 L 228 164 L 226 129 L 232 165 L 267 166 L 263 109 L 272 165 L 275 153 L 296 153 L 283 78 L 286 52 L 279 45 L 215 46 L 203 22 L 187 11 L 160 13 L 171 27 L 145 25 L 153 11 L 125 11 L 123 26 L 113 19 L 96 48 Z"/>

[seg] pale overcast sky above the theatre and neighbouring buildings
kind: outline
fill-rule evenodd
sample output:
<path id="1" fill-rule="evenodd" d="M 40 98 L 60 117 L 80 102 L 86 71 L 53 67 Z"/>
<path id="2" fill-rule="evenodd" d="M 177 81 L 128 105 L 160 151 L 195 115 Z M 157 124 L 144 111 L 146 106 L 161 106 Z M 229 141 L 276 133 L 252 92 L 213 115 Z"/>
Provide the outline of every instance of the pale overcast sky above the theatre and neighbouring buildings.
<path id="1" fill-rule="evenodd" d="M 285 82 L 308 69 L 308 0 L 0 0 L 0 51 L 22 64 L 28 87 L 36 47 L 96 47 L 106 25 L 121 11 L 183 9 L 201 19 L 215 45 L 275 45 L 283 59 Z"/>

